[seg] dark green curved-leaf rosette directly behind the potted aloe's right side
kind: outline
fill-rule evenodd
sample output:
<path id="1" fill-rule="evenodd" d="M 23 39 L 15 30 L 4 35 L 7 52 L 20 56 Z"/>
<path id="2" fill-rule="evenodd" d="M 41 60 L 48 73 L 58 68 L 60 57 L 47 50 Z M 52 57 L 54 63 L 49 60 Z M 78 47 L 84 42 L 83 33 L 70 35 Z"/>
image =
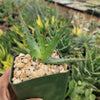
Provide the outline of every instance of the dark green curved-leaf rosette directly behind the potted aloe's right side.
<path id="1" fill-rule="evenodd" d="M 72 44 L 72 36 L 70 35 L 70 30 L 66 30 L 64 36 L 62 36 L 58 42 L 56 49 L 60 56 L 64 57 L 73 54 L 74 48 L 75 45 Z"/>

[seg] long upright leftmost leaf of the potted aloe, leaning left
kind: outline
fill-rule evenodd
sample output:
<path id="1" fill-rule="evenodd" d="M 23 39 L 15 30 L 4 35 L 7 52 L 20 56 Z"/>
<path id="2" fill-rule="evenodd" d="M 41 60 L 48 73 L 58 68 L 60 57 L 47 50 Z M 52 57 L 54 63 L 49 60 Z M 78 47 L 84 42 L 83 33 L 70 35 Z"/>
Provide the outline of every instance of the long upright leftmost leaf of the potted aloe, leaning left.
<path id="1" fill-rule="evenodd" d="M 33 57 L 39 58 L 41 56 L 40 49 L 39 49 L 38 44 L 36 43 L 34 37 L 31 35 L 29 29 L 27 28 L 27 26 L 23 20 L 23 17 L 21 15 L 21 12 L 19 12 L 19 17 L 21 20 L 21 26 L 22 26 L 23 32 L 25 33 L 25 38 L 26 38 L 28 47 L 30 49 L 30 54 Z"/>

